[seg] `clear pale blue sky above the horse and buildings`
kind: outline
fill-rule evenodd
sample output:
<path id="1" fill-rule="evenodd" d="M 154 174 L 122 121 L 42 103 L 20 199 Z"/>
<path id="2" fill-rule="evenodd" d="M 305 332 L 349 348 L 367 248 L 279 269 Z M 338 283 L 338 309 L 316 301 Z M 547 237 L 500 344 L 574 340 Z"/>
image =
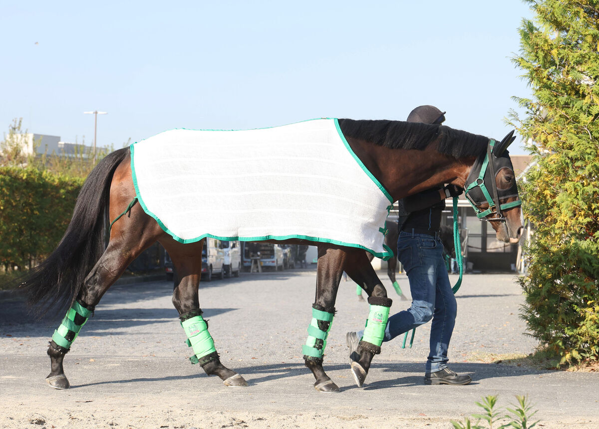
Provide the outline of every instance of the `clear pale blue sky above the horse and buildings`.
<path id="1" fill-rule="evenodd" d="M 329 117 L 445 125 L 501 139 L 530 97 L 521 0 L 0 2 L 0 131 L 122 148 L 173 128 Z M 517 138 L 510 154 L 526 154 Z"/>

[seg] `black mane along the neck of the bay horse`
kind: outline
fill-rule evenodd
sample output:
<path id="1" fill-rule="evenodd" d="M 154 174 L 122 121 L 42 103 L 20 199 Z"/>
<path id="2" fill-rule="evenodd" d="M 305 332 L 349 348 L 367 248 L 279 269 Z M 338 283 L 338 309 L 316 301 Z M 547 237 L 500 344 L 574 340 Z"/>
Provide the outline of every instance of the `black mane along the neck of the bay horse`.
<path id="1" fill-rule="evenodd" d="M 439 137 L 437 151 L 453 158 L 480 157 L 489 142 L 485 136 L 421 122 L 339 119 L 339 127 L 346 138 L 367 140 L 391 149 L 423 150 Z"/>

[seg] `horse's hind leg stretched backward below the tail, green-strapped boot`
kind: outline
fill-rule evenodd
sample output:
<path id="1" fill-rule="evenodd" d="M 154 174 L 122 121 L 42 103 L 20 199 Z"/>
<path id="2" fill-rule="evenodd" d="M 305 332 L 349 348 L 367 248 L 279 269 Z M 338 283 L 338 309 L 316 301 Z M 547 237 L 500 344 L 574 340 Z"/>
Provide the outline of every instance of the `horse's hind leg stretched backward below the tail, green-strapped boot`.
<path id="1" fill-rule="evenodd" d="M 83 282 L 83 287 L 52 336 L 48 348 L 51 370 L 46 378 L 50 387 L 66 389 L 68 379 L 63 359 L 77 338 L 81 327 L 110 286 L 144 249 L 164 234 L 158 223 L 147 216 L 140 206 L 131 209 L 131 217 L 114 224 L 110 244 Z"/>

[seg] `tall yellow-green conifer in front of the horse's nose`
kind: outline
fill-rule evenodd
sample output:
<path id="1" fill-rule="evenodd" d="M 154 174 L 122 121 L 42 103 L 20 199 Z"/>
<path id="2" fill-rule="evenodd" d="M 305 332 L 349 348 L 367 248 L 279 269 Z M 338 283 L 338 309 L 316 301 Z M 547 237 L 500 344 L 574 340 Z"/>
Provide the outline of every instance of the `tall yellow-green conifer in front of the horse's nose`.
<path id="1" fill-rule="evenodd" d="M 533 166 L 521 183 L 528 243 L 522 317 L 561 366 L 599 358 L 599 1 L 525 0 L 520 27 L 533 97 L 517 99 Z"/>

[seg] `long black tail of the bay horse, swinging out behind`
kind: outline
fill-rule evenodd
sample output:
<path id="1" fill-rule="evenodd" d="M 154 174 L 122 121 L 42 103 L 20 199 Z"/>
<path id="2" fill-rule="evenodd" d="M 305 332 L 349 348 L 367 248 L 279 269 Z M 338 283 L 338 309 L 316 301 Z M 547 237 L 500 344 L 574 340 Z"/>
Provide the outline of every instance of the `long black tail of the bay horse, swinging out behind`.
<path id="1" fill-rule="evenodd" d="M 116 167 L 129 154 L 119 149 L 103 158 L 89 173 L 77 197 L 71 222 L 48 258 L 22 279 L 29 307 L 38 317 L 50 308 L 72 304 L 83 281 L 104 252 L 105 209 Z"/>

